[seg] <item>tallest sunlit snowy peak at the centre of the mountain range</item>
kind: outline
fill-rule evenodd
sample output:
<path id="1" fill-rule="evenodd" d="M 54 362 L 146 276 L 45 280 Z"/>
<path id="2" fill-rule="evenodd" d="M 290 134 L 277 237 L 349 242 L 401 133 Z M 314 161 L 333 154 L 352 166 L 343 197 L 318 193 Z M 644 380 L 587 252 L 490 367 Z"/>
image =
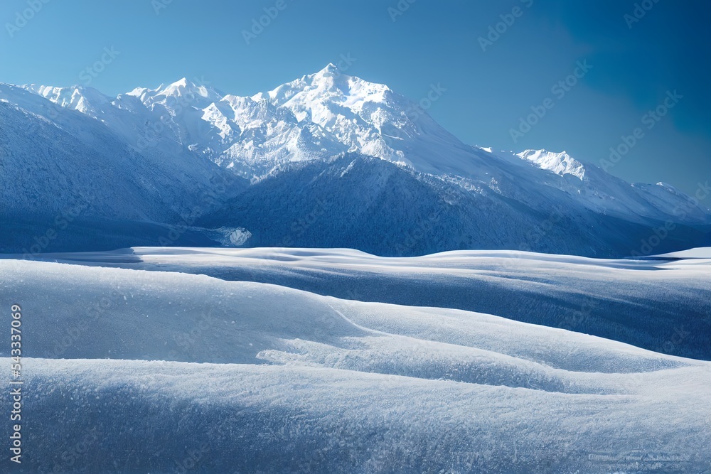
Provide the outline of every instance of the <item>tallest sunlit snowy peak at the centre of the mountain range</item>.
<path id="1" fill-rule="evenodd" d="M 424 90 L 427 100 L 442 89 Z M 319 126 L 349 151 L 360 151 L 424 173 L 462 173 L 478 170 L 464 144 L 442 129 L 419 104 L 397 95 L 387 85 L 326 68 L 252 96 L 288 109 L 299 123 Z M 432 100 L 434 100 L 432 99 Z M 454 146 L 454 149 L 453 149 Z"/>

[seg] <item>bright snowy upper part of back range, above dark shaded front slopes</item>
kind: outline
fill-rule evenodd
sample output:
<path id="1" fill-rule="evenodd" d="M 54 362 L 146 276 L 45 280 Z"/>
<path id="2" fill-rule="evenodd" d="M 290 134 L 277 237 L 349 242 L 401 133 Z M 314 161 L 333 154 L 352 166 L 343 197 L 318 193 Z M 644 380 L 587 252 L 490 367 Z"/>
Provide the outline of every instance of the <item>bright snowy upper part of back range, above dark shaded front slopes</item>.
<path id="1" fill-rule="evenodd" d="M 186 78 L 115 99 L 88 87 L 23 87 L 99 119 L 132 146 L 141 144 L 141 153 L 198 155 L 253 181 L 287 163 L 358 151 L 421 173 L 454 175 L 464 189 L 491 190 L 542 212 L 572 200 L 631 222 L 711 223 L 707 206 L 669 185 L 630 185 L 565 151 L 494 153 L 463 144 L 417 101 L 332 64 L 250 97 Z"/>

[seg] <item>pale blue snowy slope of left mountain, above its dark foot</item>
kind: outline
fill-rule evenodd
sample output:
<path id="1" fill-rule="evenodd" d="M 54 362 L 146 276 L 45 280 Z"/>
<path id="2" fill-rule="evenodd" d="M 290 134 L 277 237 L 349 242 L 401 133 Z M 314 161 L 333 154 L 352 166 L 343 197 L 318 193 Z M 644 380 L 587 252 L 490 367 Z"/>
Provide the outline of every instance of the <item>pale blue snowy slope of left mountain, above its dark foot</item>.
<path id="1" fill-rule="evenodd" d="M 161 123 L 155 115 L 113 107 L 88 87 L 26 87 L 36 94 L 0 84 L 0 97 L 9 99 L 0 110 L 2 217 L 43 213 L 49 228 L 55 216 L 80 209 L 82 216 L 169 222 L 240 189 L 232 173 L 176 141 L 151 146 Z M 217 195 L 214 183 L 237 187 Z"/>

